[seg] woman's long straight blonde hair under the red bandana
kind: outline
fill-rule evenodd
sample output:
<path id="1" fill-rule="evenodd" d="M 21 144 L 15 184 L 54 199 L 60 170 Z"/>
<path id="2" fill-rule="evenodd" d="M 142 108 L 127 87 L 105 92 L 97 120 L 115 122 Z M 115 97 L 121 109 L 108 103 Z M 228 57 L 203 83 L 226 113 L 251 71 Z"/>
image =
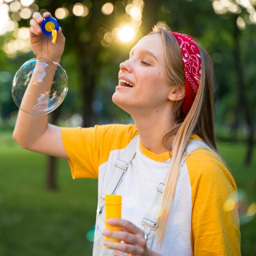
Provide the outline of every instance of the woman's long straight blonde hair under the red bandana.
<path id="1" fill-rule="evenodd" d="M 150 34 L 160 34 L 164 44 L 164 72 L 170 85 L 185 87 L 184 64 L 180 45 L 165 23 L 159 22 Z M 149 35 L 150 35 L 149 34 Z M 216 152 L 216 139 L 213 126 L 213 65 L 207 52 L 198 45 L 201 55 L 202 74 L 198 92 L 186 117 L 182 116 L 183 100 L 177 101 L 174 109 L 175 125 L 163 138 L 164 146 L 171 152 L 172 161 L 159 210 L 157 229 L 158 241 L 162 243 L 166 222 L 171 211 L 180 164 L 192 133 L 198 135 Z M 218 155 L 219 156 L 219 155 Z"/>

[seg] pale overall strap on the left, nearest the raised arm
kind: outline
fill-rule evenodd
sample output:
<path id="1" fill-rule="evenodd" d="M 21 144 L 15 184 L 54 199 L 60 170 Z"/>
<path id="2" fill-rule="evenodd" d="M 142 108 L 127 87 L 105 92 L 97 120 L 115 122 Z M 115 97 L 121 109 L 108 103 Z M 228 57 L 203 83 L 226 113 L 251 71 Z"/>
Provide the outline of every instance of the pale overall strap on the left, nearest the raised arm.
<path id="1" fill-rule="evenodd" d="M 101 214 L 104 203 L 101 205 L 101 201 L 105 202 L 105 195 L 115 195 L 117 189 L 119 188 L 124 175 L 126 174 L 129 163 L 136 154 L 137 141 L 139 135 L 136 135 L 124 148 L 119 159 L 115 162 L 115 168 L 112 173 L 112 177 L 108 182 L 106 189 L 99 195 L 100 204 L 97 208 L 97 213 Z"/>

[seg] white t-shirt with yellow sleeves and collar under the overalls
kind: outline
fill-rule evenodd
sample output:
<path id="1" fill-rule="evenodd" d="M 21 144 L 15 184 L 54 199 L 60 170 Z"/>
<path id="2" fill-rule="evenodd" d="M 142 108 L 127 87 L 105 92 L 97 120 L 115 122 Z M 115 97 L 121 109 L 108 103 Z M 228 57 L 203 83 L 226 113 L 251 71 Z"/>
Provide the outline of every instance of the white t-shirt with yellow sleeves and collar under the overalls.
<path id="1" fill-rule="evenodd" d="M 98 193 L 110 181 L 122 150 L 137 134 L 135 125 L 103 125 L 92 128 L 62 128 L 65 150 L 73 178 L 98 178 Z M 199 139 L 193 135 L 191 140 Z M 170 166 L 169 153 L 156 155 L 137 144 L 135 157 L 121 182 L 122 218 L 143 229 L 141 219 L 150 210 L 157 185 Z M 164 256 L 240 255 L 240 231 L 233 177 L 218 157 L 206 149 L 195 150 L 183 164 L 161 247 Z"/>

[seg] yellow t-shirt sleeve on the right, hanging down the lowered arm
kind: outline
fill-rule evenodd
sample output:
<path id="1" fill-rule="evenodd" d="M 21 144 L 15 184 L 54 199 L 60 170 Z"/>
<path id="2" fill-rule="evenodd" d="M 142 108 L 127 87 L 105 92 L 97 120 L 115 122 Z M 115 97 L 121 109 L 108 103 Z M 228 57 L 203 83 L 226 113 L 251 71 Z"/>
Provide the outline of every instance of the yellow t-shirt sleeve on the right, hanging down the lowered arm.
<path id="1" fill-rule="evenodd" d="M 218 157 L 205 149 L 189 155 L 186 164 L 191 182 L 194 255 L 240 256 L 237 189 L 233 177 Z"/>

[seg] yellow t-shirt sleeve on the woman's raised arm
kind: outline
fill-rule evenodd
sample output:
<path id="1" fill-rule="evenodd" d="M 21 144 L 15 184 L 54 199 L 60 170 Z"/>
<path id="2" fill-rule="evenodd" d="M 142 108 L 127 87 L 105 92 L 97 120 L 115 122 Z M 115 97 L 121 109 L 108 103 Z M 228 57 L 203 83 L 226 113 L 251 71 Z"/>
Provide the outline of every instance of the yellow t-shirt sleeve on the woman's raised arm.
<path id="1" fill-rule="evenodd" d="M 134 125 L 102 125 L 90 128 L 61 128 L 72 177 L 98 178 L 98 168 L 112 150 L 122 149 L 137 135 Z"/>

